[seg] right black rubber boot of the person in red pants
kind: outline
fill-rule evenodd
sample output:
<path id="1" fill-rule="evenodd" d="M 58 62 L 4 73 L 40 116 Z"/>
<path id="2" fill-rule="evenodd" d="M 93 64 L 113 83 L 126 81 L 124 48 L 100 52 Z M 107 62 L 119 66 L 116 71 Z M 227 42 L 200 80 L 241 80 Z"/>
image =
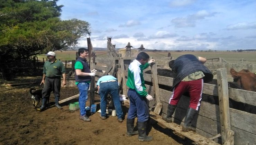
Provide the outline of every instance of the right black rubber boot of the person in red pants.
<path id="1" fill-rule="evenodd" d="M 188 132 L 193 131 L 195 132 L 195 127 L 191 126 L 191 122 L 196 114 L 196 110 L 193 108 L 189 108 L 188 112 L 185 117 L 184 125 L 182 126 L 182 131 Z"/>

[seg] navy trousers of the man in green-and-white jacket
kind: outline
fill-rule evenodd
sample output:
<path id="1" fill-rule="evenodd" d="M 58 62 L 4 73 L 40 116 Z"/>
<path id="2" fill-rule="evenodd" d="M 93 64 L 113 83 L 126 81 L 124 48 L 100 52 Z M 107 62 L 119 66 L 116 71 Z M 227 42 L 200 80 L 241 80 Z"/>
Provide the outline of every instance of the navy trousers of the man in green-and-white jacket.
<path id="1" fill-rule="evenodd" d="M 146 122 L 149 117 L 146 97 L 141 97 L 134 89 L 129 89 L 127 96 L 130 99 L 130 108 L 127 119 L 138 117 L 138 122 Z"/>

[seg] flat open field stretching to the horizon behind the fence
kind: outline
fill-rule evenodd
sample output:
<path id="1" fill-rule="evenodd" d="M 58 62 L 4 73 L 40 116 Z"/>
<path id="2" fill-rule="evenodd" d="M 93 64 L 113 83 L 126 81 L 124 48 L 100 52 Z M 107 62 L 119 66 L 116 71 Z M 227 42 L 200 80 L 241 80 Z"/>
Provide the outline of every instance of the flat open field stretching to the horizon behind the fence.
<path id="1" fill-rule="evenodd" d="M 62 61 L 71 61 L 75 60 L 76 51 L 55 51 L 57 59 Z M 107 51 L 95 51 L 97 57 L 107 57 Z M 205 57 L 207 59 L 211 58 L 223 58 L 228 62 L 241 62 L 241 59 L 244 59 L 244 63 L 256 64 L 256 52 L 227 52 L 227 51 L 213 51 L 213 52 L 201 52 L 201 51 L 146 51 L 149 56 L 153 57 L 167 57 L 168 52 L 171 53 L 171 56 L 175 58 L 184 55 L 184 54 L 193 54 L 195 56 Z M 45 55 L 37 55 L 38 60 L 46 60 Z"/>

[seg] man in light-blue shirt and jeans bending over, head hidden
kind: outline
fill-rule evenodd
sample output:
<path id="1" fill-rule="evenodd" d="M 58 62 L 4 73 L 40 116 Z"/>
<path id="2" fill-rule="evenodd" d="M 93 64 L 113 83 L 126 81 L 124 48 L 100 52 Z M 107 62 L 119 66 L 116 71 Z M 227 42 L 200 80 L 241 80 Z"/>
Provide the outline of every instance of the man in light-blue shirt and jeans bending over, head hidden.
<path id="1" fill-rule="evenodd" d="M 101 119 L 106 119 L 106 109 L 107 109 L 107 96 L 110 93 L 115 105 L 116 113 L 117 113 L 117 120 L 118 122 L 123 122 L 123 112 L 122 112 L 122 106 L 120 103 L 120 97 L 119 97 L 119 86 L 117 82 L 117 78 L 107 75 L 102 76 L 98 82 L 97 85 L 98 91 L 100 94 L 100 111 Z"/>

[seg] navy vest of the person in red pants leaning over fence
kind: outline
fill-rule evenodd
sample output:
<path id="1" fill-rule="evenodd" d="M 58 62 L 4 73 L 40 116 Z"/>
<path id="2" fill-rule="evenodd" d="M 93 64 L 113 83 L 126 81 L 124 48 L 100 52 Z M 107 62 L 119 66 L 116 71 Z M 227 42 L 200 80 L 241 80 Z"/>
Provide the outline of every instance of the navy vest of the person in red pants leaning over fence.
<path id="1" fill-rule="evenodd" d="M 212 72 L 204 66 L 194 55 L 182 55 L 175 59 L 172 70 L 177 74 L 173 79 L 173 87 L 175 87 L 182 79 L 195 71 L 202 71 L 204 74 L 203 81 L 207 83 L 213 79 Z M 171 89 L 171 90 L 172 90 Z"/>

